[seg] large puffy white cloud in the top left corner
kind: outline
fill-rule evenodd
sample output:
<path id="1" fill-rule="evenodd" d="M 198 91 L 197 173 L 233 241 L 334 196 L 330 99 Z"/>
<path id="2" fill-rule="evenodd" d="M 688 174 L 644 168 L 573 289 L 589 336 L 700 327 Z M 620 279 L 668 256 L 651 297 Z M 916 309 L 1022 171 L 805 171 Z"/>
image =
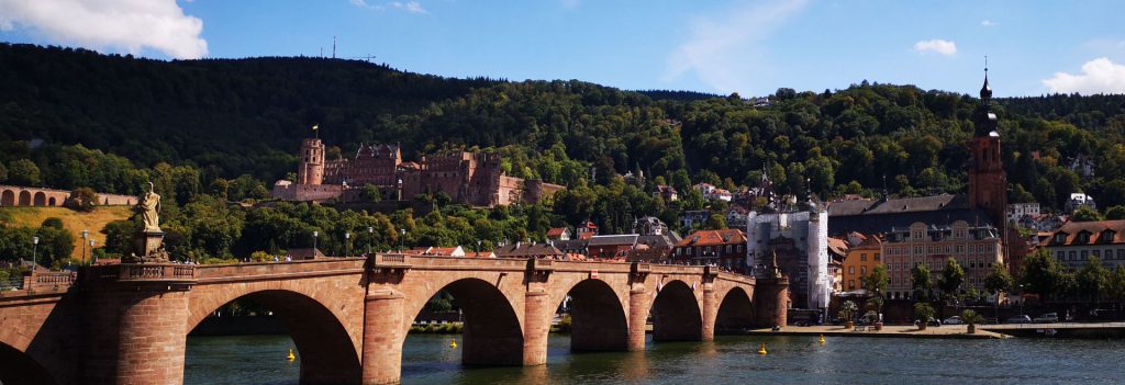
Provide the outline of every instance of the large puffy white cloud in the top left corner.
<path id="1" fill-rule="evenodd" d="M 202 20 L 183 15 L 176 0 L 0 0 L 0 29 L 27 29 L 53 43 L 92 49 L 207 55 Z"/>

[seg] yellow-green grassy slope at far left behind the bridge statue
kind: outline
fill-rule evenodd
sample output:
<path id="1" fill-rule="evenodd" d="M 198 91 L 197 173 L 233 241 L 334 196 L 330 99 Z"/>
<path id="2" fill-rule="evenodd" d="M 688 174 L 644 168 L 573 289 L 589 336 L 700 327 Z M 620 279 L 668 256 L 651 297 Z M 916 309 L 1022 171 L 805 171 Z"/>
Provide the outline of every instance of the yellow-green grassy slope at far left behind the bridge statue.
<path id="1" fill-rule="evenodd" d="M 0 220 L 12 227 L 39 227 L 47 218 L 62 219 L 63 226 L 74 235 L 74 253 L 71 254 L 74 259 L 82 257 L 83 229 L 90 230 L 90 238 L 100 247 L 106 244 L 106 235 L 101 233 L 106 223 L 128 219 L 133 214 L 132 208 L 125 205 L 98 207 L 92 212 L 66 208 L 2 208 L 0 212 Z"/>

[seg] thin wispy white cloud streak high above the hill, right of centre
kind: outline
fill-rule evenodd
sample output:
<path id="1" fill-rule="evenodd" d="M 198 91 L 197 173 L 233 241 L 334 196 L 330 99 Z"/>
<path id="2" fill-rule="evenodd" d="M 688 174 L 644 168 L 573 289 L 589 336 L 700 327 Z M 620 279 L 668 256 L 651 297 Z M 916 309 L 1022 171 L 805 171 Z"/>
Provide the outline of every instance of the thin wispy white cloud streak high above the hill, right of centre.
<path id="1" fill-rule="evenodd" d="M 762 1 L 722 15 L 698 18 L 688 40 L 672 53 L 663 80 L 693 72 L 720 92 L 748 90 L 755 64 L 764 59 L 760 43 L 801 10 L 807 0 Z"/>

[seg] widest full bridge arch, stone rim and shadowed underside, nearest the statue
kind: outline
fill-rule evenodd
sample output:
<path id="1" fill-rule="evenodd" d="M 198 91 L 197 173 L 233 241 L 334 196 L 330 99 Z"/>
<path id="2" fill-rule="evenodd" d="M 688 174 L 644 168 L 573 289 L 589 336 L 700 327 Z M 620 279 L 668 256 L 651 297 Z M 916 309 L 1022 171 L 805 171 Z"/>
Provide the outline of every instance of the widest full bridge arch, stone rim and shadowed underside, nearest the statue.
<path id="1" fill-rule="evenodd" d="M 292 338 L 300 358 L 302 384 L 359 384 L 362 376 L 360 357 L 349 323 L 336 313 L 340 304 L 322 301 L 296 287 L 272 286 L 244 291 L 226 287 L 225 291 L 216 291 L 220 293 L 218 295 L 212 292 L 202 300 L 192 301 L 184 338 L 222 305 L 249 299 L 270 309 Z M 361 318 L 361 310 L 354 317 Z"/>

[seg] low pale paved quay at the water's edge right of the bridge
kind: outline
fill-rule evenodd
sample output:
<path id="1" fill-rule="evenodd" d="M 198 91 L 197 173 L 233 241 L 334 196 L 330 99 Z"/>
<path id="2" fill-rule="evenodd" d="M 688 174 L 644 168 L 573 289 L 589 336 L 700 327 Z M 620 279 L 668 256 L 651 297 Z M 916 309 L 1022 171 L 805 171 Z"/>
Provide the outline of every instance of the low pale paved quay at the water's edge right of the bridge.
<path id="1" fill-rule="evenodd" d="M 816 326 L 794 327 L 786 326 L 777 331 L 773 329 L 754 329 L 748 336 L 825 336 L 825 337 L 875 337 L 875 338 L 945 338 L 945 339 L 1001 339 L 1008 336 L 987 331 L 979 326 L 976 332 L 969 333 L 966 326 L 950 324 L 942 327 L 929 327 L 926 330 L 918 330 L 915 326 L 884 326 L 883 330 L 875 331 L 874 328 L 864 327 L 845 329 L 843 326 Z M 863 330 L 863 331 L 861 331 Z"/>

